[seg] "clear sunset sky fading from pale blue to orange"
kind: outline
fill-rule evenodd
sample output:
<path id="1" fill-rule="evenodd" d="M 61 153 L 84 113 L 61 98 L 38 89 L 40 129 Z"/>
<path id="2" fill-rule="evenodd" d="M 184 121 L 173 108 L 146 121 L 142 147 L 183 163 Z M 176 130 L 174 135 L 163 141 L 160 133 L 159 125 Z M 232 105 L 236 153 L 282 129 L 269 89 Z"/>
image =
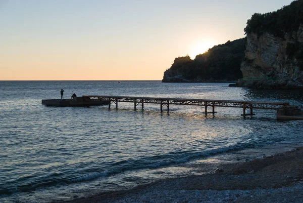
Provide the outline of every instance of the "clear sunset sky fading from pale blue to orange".
<path id="1" fill-rule="evenodd" d="M 292 0 L 0 0 L 0 80 L 161 80 Z"/>

